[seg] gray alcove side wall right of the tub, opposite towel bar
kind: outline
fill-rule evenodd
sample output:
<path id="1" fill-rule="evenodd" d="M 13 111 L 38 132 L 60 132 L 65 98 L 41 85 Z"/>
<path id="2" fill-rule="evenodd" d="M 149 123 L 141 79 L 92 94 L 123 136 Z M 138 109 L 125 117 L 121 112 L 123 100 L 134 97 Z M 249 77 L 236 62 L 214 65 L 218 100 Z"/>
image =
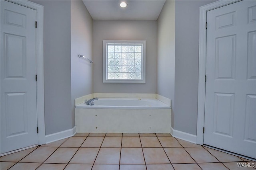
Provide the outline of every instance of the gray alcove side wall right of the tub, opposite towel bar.
<path id="1" fill-rule="evenodd" d="M 175 1 L 166 1 L 157 20 L 157 94 L 172 100 L 175 73 Z M 172 109 L 172 124 L 174 111 Z"/>

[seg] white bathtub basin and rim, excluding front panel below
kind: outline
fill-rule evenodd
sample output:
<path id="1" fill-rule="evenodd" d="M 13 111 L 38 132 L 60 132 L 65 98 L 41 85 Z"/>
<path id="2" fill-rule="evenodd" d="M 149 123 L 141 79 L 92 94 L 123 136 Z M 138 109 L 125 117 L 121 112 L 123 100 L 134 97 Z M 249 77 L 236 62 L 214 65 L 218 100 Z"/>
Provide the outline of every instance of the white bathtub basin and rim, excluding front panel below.
<path id="1" fill-rule="evenodd" d="M 156 98 L 99 98 L 94 105 L 79 104 L 76 108 L 87 109 L 170 109 Z"/>

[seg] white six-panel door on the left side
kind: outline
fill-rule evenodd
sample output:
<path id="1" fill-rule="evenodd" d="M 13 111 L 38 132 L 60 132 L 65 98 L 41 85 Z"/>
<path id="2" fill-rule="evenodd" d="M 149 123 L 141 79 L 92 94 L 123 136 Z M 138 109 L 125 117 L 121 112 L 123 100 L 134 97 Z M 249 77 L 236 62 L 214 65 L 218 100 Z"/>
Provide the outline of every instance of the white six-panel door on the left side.
<path id="1" fill-rule="evenodd" d="M 38 144 L 36 11 L 1 3 L 1 153 Z"/>

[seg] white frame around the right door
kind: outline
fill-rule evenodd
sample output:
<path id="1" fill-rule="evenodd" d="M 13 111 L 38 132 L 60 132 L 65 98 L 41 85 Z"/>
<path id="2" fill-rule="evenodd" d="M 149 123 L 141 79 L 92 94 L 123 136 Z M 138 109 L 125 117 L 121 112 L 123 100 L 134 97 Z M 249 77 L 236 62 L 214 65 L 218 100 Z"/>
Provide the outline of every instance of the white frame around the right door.
<path id="1" fill-rule="evenodd" d="M 206 19 L 207 11 L 234 4 L 241 0 L 216 1 L 199 8 L 199 68 L 196 143 L 204 144 L 205 75 L 206 75 Z"/>

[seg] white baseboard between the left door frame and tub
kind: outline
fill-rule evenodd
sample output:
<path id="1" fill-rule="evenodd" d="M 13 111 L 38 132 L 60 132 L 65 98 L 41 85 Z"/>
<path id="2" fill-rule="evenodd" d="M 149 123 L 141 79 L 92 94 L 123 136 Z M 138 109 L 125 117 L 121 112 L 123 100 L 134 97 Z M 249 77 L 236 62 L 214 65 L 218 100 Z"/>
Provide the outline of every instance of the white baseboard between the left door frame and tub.
<path id="1" fill-rule="evenodd" d="M 61 139 L 65 139 L 68 137 L 72 137 L 76 134 L 76 126 L 73 127 L 72 129 L 68 129 L 66 131 L 61 131 L 61 132 L 57 132 L 57 133 L 53 133 L 50 135 L 46 135 L 45 136 L 45 143 L 51 143 L 51 142 L 55 142 Z"/>

